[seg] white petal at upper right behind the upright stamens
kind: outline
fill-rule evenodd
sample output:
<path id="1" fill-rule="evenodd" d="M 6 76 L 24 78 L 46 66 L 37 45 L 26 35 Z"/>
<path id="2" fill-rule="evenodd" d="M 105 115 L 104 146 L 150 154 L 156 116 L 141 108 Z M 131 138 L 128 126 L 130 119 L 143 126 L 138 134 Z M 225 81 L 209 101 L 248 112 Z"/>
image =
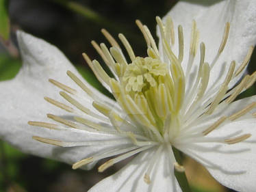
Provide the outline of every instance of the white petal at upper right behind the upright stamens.
<path id="1" fill-rule="evenodd" d="M 223 71 L 227 71 L 231 61 L 242 63 L 250 46 L 256 43 L 256 1 L 179 1 L 167 14 L 172 17 L 175 26 L 176 39 L 174 51 L 178 52 L 177 26 L 182 25 L 184 33 L 184 61 L 186 69 L 190 49 L 190 32 L 192 20 L 196 20 L 199 29 L 199 43 L 205 42 L 205 61 L 213 61 L 222 40 L 225 23 L 230 22 L 229 38 L 225 49 L 210 74 L 209 86 L 222 83 L 225 77 L 219 78 Z M 159 44 L 161 48 L 162 42 Z M 199 51 L 194 66 L 199 65 Z M 242 74 L 241 74 L 242 75 Z M 240 78 L 237 77 L 235 81 Z M 234 85 L 233 81 L 232 85 Z M 230 86 L 232 86 L 230 85 Z"/>

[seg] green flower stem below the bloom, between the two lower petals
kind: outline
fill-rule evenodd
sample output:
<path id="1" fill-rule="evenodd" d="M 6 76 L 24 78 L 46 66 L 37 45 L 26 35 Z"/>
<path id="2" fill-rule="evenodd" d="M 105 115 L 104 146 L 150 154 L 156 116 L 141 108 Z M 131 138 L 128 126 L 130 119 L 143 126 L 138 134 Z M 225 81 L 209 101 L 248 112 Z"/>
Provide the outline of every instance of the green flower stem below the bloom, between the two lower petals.
<path id="1" fill-rule="evenodd" d="M 177 150 L 177 148 L 172 147 L 173 153 L 175 154 L 175 159 L 179 165 L 182 165 L 182 158 L 181 158 L 181 152 Z M 177 172 L 175 170 L 175 177 L 177 178 L 177 181 L 179 182 L 179 186 L 181 187 L 181 190 L 183 192 L 191 192 L 190 186 L 188 184 L 188 179 L 185 176 L 185 172 Z"/>

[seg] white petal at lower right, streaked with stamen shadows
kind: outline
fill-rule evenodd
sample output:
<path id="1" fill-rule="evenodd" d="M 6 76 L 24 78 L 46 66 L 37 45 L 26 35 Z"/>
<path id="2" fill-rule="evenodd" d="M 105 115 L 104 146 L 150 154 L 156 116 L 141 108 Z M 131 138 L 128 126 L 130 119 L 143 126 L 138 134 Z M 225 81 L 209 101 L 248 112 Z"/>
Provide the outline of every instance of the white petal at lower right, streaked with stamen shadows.
<path id="1" fill-rule="evenodd" d="M 255 96 L 238 100 L 227 108 L 226 114 L 232 114 L 243 109 L 255 101 Z M 255 112 L 255 109 L 253 109 Z M 250 118 L 251 117 L 251 118 Z M 207 137 L 225 137 L 236 131 L 241 131 L 241 135 L 250 133 L 252 136 L 240 143 L 220 144 L 220 143 L 196 143 L 197 146 L 183 146 L 179 148 L 192 158 L 206 165 L 208 171 L 225 186 L 235 191 L 255 191 L 256 190 L 256 118 L 251 113 L 246 118 L 240 118 L 225 126 L 209 133 Z M 204 160 L 203 160 L 204 159 Z M 207 162 L 208 161 L 208 162 Z M 211 162 L 211 163 L 209 163 Z M 213 166 L 212 166 L 212 165 Z M 215 166 L 215 167 L 214 167 Z"/>

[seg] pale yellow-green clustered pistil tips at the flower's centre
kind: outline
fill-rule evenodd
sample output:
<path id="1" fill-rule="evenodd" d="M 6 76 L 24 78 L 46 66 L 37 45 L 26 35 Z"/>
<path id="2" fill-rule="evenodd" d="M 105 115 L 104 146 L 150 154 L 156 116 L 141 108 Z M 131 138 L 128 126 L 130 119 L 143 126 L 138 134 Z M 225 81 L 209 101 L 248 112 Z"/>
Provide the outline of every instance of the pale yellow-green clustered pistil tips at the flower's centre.
<path id="1" fill-rule="evenodd" d="M 136 57 L 125 70 L 123 83 L 126 92 L 145 92 L 155 87 L 158 79 L 167 74 L 167 64 L 152 57 Z"/>

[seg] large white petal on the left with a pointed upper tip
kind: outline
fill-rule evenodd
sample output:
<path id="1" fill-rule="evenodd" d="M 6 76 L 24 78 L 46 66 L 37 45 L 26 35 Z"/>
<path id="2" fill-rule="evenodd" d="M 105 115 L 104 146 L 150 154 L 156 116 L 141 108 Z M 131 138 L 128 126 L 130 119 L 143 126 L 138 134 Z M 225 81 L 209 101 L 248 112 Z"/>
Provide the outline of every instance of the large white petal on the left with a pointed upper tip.
<path id="1" fill-rule="evenodd" d="M 75 163 L 75 161 L 85 158 L 88 154 L 99 150 L 99 148 L 60 148 L 40 143 L 31 137 L 38 135 L 40 137 L 52 138 L 52 135 L 54 135 L 56 138 L 69 141 L 77 141 L 77 139 L 90 141 L 92 139 L 116 138 L 108 134 L 76 131 L 73 128 L 71 128 L 71 131 L 54 131 L 27 124 L 28 121 L 45 122 L 47 113 L 72 115 L 47 103 L 44 100 L 44 96 L 49 96 L 53 99 L 60 98 L 58 94 L 59 90 L 49 83 L 49 78 L 77 88 L 75 83 L 66 76 L 66 70 L 71 70 L 76 74 L 77 71 L 55 46 L 22 31 L 18 31 L 17 36 L 23 57 L 23 67 L 15 79 L 0 82 L 1 139 L 8 141 L 23 152 L 57 159 L 67 163 Z M 103 100 L 108 100 L 96 90 L 94 91 Z M 90 108 L 90 106 L 86 107 Z"/>

